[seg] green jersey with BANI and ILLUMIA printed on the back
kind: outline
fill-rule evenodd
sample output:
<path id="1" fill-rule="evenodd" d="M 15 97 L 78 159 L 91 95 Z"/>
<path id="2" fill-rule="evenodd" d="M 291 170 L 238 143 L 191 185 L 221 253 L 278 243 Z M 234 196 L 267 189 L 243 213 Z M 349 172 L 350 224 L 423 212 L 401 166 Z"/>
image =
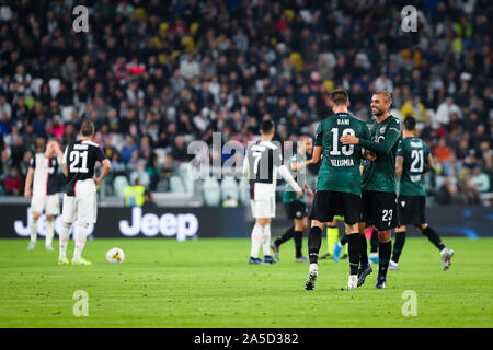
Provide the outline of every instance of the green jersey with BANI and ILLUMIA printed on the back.
<path id="1" fill-rule="evenodd" d="M 359 163 L 362 147 L 344 145 L 340 139 L 343 135 L 353 135 L 360 139 L 369 138 L 366 124 L 349 113 L 336 113 L 320 121 L 314 145 L 322 147 L 322 165 L 320 166 L 317 190 L 333 190 L 362 194 L 362 175 Z"/>

